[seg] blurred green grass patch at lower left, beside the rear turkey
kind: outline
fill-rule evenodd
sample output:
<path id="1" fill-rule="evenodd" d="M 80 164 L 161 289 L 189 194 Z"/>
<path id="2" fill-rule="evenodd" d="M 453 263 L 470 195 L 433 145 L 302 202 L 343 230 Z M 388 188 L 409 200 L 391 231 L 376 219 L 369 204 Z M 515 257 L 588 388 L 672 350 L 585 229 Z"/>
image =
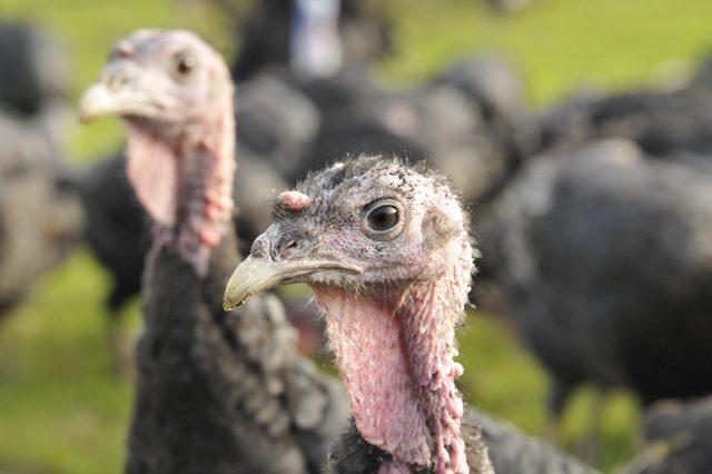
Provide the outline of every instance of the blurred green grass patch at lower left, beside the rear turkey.
<path id="1" fill-rule="evenodd" d="M 111 376 L 108 278 L 78 253 L 0 333 L 0 472 L 119 472 L 131 385 Z M 137 323 L 136 305 L 127 323 Z M 108 471 L 105 471 L 102 466 Z"/>

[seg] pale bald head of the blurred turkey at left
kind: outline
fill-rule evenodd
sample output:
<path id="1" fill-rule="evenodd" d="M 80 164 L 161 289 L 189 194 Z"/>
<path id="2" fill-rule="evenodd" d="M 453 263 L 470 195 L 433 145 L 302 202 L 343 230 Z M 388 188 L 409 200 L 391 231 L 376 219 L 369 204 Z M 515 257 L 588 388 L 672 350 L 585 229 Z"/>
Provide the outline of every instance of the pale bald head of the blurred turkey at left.
<path id="1" fill-rule="evenodd" d="M 120 116 L 157 126 L 185 126 L 209 121 L 233 95 L 225 61 L 197 34 L 139 30 L 116 43 L 99 82 L 87 90 L 80 108 L 86 120 Z"/>

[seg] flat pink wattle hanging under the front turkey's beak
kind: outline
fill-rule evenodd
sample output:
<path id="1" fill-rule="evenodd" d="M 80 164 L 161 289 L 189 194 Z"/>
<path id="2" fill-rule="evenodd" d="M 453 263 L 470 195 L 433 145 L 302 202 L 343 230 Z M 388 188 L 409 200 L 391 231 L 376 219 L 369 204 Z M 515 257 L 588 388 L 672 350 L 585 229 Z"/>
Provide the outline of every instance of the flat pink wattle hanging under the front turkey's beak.
<path id="1" fill-rule="evenodd" d="M 364 440 L 411 464 L 432 457 L 426 417 L 408 374 L 399 322 L 383 304 L 338 288 L 315 288 L 329 343 Z"/>

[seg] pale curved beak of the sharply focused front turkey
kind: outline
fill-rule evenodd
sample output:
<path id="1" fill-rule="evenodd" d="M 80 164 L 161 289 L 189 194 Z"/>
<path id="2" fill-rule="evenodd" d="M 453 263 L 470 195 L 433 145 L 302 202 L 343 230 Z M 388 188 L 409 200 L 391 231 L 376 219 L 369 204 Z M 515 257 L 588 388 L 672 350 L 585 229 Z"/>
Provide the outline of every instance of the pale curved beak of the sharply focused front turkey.
<path id="1" fill-rule="evenodd" d="M 226 312 L 245 303 L 249 297 L 279 285 L 298 283 L 304 277 L 323 270 L 360 274 L 356 265 L 337 260 L 298 259 L 275 261 L 250 255 L 237 266 L 225 290 L 222 307 Z"/>

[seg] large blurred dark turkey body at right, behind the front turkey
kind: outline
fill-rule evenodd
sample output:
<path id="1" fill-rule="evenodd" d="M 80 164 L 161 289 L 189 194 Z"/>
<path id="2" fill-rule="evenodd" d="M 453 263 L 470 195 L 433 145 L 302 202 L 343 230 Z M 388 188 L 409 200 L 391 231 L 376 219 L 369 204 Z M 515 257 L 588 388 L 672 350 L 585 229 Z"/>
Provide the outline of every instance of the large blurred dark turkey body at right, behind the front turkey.
<path id="1" fill-rule="evenodd" d="M 534 156 L 481 226 L 484 264 L 554 382 L 644 404 L 712 392 L 712 162 L 626 139 Z"/>

